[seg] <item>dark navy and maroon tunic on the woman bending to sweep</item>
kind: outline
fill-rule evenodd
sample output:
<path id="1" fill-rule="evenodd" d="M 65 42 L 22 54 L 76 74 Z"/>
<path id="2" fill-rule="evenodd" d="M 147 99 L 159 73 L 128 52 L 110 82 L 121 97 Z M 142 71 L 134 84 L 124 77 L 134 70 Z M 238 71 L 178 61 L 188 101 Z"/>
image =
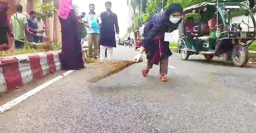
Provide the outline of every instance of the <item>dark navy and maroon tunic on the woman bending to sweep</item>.
<path id="1" fill-rule="evenodd" d="M 151 17 L 151 19 L 148 20 L 144 27 L 143 47 L 145 47 L 148 53 L 147 59 L 153 61 L 153 64 L 157 65 L 160 58 L 168 58 L 172 55 L 172 52 L 169 49 L 169 42 L 164 42 L 164 33 L 176 30 L 180 23 L 178 22 L 177 24 L 173 24 L 168 20 L 168 22 L 166 22 L 168 25 L 165 26 L 161 22 L 163 17 L 164 12 L 155 14 L 153 17 Z M 161 57 L 158 57 L 158 55 L 156 56 L 156 53 L 160 52 L 159 47 L 161 47 Z"/>

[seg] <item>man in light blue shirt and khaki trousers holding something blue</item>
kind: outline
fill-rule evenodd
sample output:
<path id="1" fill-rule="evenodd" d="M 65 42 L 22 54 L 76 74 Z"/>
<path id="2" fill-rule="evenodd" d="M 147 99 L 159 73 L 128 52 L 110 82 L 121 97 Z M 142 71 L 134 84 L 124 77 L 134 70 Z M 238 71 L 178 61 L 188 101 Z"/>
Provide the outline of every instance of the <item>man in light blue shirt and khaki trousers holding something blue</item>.
<path id="1" fill-rule="evenodd" d="M 89 45 L 89 56 L 97 59 L 99 45 L 99 14 L 94 12 L 94 4 L 89 5 L 90 12 L 84 17 L 85 26 L 87 27 L 87 41 Z M 92 51 L 92 47 L 94 50 Z"/>

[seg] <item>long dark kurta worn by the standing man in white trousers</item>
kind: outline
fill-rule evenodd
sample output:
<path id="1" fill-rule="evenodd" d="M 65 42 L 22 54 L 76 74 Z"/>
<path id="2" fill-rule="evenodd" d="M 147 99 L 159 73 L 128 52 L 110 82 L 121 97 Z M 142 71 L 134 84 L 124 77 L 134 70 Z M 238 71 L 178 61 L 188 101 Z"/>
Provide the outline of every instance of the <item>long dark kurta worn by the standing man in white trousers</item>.
<path id="1" fill-rule="evenodd" d="M 107 47 L 116 47 L 116 36 L 115 36 L 115 28 L 116 34 L 119 34 L 119 27 L 117 22 L 117 16 L 112 11 L 108 15 L 108 12 L 102 12 L 100 14 L 102 19 L 102 25 L 99 29 L 99 45 L 107 46 Z"/>

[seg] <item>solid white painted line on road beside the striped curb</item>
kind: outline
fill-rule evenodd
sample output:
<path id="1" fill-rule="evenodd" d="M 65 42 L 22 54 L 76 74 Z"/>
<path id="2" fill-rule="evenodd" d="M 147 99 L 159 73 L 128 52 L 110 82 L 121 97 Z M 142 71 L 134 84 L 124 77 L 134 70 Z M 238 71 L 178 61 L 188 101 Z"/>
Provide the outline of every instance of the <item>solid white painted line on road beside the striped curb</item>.
<path id="1" fill-rule="evenodd" d="M 38 91 L 41 91 L 42 89 L 46 88 L 47 86 L 51 85 L 52 83 L 55 83 L 56 81 L 69 75 L 71 72 L 74 72 L 74 71 L 75 70 L 69 70 L 67 72 L 64 72 L 62 75 L 59 75 L 58 77 L 55 77 L 52 80 L 45 82 L 44 84 L 32 89 L 31 91 L 26 92 L 25 94 L 21 95 L 20 97 L 17 97 L 14 100 L 0 106 L 0 113 L 3 113 L 4 111 L 12 108 L 13 106 L 21 103 L 23 100 L 27 99 L 28 97 L 32 96 L 33 94 L 37 93 Z"/>

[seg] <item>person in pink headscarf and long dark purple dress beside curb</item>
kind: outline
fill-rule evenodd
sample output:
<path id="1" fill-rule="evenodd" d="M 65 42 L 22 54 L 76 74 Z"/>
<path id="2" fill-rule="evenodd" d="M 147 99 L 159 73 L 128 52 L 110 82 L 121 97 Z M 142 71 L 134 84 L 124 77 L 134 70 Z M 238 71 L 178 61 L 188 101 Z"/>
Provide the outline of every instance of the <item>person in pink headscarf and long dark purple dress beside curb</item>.
<path id="1" fill-rule="evenodd" d="M 72 0 L 60 0 L 58 16 L 61 22 L 61 67 L 66 70 L 82 69 L 84 61 Z"/>

